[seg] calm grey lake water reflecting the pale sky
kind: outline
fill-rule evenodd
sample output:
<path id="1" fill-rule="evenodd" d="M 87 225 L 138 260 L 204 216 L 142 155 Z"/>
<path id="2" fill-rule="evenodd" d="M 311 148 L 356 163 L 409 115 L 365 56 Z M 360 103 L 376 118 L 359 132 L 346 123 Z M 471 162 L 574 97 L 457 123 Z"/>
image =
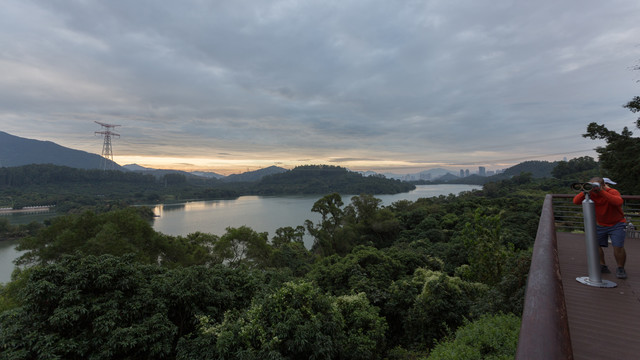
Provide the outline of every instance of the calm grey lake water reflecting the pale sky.
<path id="1" fill-rule="evenodd" d="M 398 200 L 415 201 L 419 198 L 480 189 L 475 185 L 419 185 L 415 190 L 394 195 L 376 195 L 382 205 L 391 205 Z M 345 205 L 351 203 L 352 195 L 343 195 Z M 158 216 L 153 228 L 168 235 L 187 235 L 196 231 L 223 235 L 227 227 L 246 225 L 258 232 L 275 235 L 275 230 L 285 226 L 304 225 L 309 219 L 317 222 L 319 214 L 311 207 L 321 196 L 242 196 L 235 200 L 194 201 L 183 204 L 157 205 L 153 208 Z M 42 214 L 44 215 L 44 214 Z M 41 215 L 41 216 L 42 216 Z M 49 214 L 51 217 L 53 214 Z M 42 216 L 45 218 L 46 216 Z M 28 223 L 36 217 L 11 218 L 14 224 Z M 41 218 L 41 219 L 42 219 Z M 311 239 L 305 245 L 311 247 Z M 0 283 L 11 280 L 13 259 L 20 254 L 14 249 L 16 242 L 0 241 Z"/>

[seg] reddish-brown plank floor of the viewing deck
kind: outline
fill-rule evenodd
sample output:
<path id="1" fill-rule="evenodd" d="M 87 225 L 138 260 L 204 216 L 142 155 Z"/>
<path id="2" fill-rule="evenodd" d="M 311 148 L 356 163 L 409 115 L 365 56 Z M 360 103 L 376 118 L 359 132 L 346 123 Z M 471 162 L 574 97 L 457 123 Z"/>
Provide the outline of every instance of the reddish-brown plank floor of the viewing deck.
<path id="1" fill-rule="evenodd" d="M 640 359 L 640 239 L 625 242 L 626 280 L 615 277 L 613 249 L 605 249 L 612 273 L 602 279 L 615 282 L 615 288 L 576 280 L 588 276 L 583 234 L 558 233 L 557 239 L 574 359 Z"/>

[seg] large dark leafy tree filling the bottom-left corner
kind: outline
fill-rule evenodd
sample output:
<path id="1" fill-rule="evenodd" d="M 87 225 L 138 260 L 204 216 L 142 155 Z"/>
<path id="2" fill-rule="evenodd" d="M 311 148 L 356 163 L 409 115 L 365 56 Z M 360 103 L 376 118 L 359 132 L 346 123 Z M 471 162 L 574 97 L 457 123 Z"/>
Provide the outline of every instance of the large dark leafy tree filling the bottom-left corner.
<path id="1" fill-rule="evenodd" d="M 149 286 L 159 269 L 108 255 L 33 268 L 22 307 L 0 315 L 0 349 L 9 359 L 168 356 L 176 326 Z"/>

